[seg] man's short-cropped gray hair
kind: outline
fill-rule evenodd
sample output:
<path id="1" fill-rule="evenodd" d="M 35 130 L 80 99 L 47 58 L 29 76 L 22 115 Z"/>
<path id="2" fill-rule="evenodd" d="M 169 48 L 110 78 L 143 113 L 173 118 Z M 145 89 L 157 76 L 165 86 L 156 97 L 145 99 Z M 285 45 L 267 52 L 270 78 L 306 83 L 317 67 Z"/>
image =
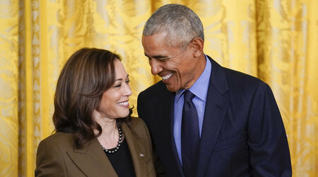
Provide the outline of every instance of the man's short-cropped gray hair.
<path id="1" fill-rule="evenodd" d="M 168 45 L 187 47 L 193 38 L 204 40 L 204 28 L 199 16 L 187 6 L 167 4 L 158 8 L 143 28 L 143 35 L 166 33 Z"/>

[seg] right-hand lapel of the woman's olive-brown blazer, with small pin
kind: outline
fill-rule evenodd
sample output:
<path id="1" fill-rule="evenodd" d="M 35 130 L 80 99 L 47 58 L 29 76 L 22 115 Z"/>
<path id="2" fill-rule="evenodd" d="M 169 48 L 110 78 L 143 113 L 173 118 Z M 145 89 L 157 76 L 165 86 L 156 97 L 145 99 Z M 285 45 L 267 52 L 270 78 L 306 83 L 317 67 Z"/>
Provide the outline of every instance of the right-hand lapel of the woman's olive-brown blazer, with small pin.
<path id="1" fill-rule="evenodd" d="M 131 130 L 126 123 L 122 124 L 122 131 L 124 132 L 129 147 L 136 176 L 148 176 L 146 164 L 150 160 L 152 154 L 147 154 L 144 147 L 144 144 L 146 143 L 143 142 L 141 138 L 137 137 L 136 132 Z"/>

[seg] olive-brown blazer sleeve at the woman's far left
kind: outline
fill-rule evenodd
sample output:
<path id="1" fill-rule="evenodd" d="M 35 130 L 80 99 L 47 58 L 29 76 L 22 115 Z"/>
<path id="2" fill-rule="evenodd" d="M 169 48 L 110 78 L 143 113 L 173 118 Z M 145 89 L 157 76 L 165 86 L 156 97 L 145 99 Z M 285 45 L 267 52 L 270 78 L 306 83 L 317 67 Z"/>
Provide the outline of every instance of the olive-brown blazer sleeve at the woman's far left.
<path id="1" fill-rule="evenodd" d="M 54 142 L 42 140 L 37 147 L 35 176 L 66 176 L 66 166 L 61 152 Z"/>

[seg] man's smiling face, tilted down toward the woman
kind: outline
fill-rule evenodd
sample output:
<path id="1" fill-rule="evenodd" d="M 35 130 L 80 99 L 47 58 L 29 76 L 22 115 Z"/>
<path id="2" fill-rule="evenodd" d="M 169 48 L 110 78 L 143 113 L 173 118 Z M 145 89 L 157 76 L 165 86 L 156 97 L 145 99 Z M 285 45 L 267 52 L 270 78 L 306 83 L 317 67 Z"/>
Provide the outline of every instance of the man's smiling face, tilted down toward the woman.
<path id="1" fill-rule="evenodd" d="M 151 73 L 163 79 L 169 91 L 189 89 L 196 81 L 196 63 L 192 42 L 185 49 L 172 47 L 165 33 L 143 35 L 143 50 L 149 59 Z"/>

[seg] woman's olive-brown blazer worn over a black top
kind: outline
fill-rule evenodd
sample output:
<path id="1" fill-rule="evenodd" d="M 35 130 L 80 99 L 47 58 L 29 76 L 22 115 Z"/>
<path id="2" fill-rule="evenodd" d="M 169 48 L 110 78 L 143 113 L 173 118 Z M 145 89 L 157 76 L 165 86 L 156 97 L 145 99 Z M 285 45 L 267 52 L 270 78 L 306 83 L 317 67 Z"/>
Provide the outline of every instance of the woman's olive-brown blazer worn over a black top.
<path id="1" fill-rule="evenodd" d="M 155 176 L 151 137 L 144 122 L 133 118 L 122 124 L 136 176 Z M 83 148 L 74 145 L 73 134 L 57 132 L 37 148 L 35 176 L 117 176 L 95 138 Z"/>

